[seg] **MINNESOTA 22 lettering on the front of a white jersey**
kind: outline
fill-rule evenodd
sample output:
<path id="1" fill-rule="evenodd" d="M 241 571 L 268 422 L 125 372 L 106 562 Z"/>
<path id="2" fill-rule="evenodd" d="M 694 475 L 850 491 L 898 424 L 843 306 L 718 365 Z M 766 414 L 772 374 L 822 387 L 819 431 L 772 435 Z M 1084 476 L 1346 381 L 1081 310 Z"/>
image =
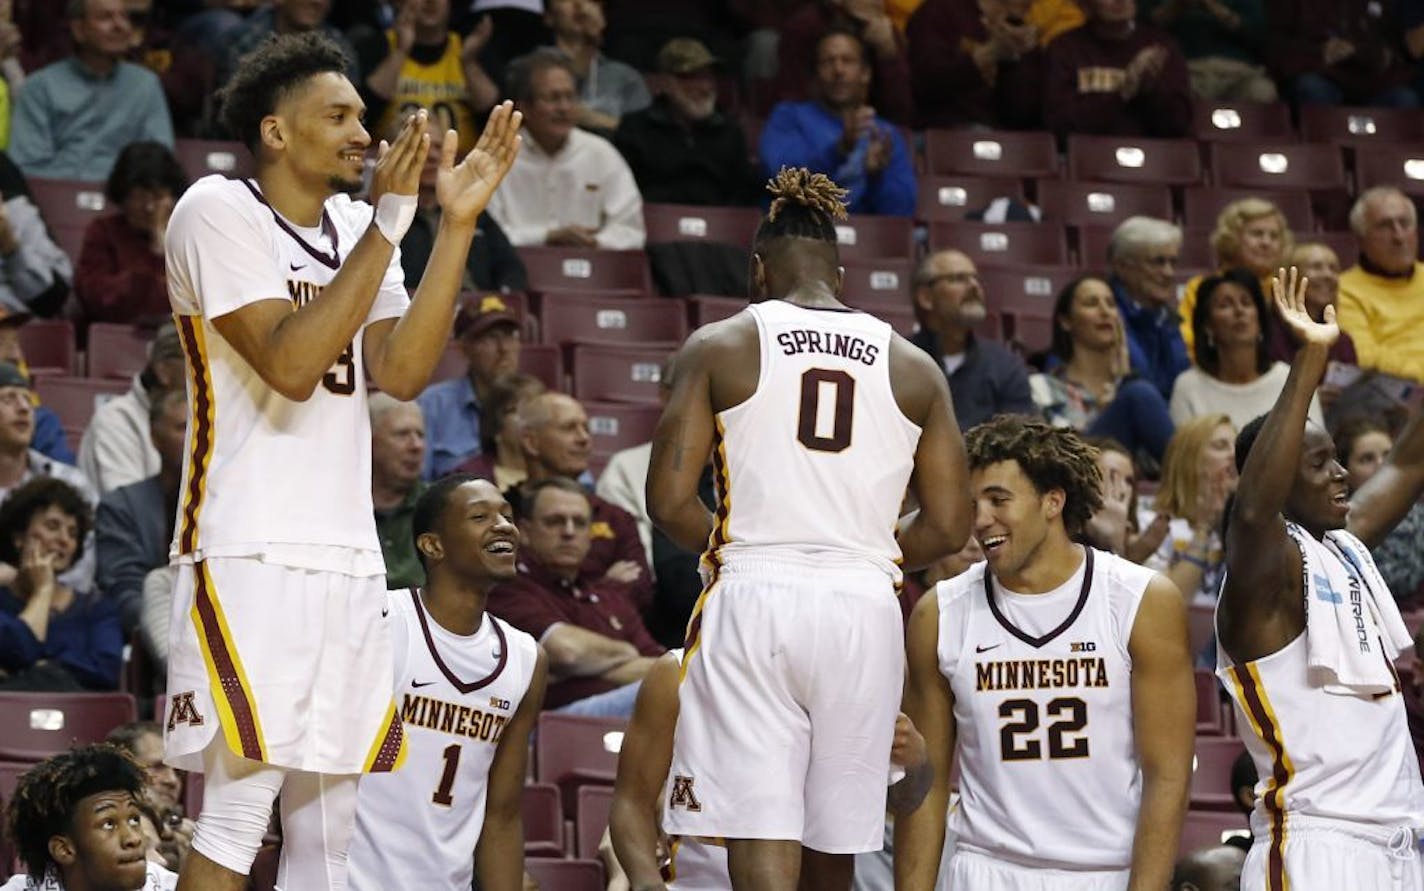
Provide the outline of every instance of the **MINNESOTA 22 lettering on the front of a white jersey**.
<path id="1" fill-rule="evenodd" d="M 1079 643 L 1072 645 L 1074 650 Z M 1071 690 L 1108 686 L 1102 656 L 1074 659 L 998 659 L 974 666 L 974 692 Z M 1088 703 L 1078 696 L 1018 696 L 998 703 L 1000 757 L 1005 761 L 1085 759 Z"/>

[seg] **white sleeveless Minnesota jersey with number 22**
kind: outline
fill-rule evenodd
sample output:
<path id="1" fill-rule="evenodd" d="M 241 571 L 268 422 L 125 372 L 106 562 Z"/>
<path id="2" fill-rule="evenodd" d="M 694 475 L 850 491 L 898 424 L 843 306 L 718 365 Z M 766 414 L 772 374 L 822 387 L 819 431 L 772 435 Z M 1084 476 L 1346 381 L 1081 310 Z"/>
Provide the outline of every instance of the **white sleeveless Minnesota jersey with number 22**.
<path id="1" fill-rule="evenodd" d="M 1067 870 L 1132 863 L 1142 776 L 1128 639 L 1153 572 L 1104 551 L 1041 595 L 987 564 L 940 582 L 940 670 L 954 693 L 958 844 Z"/>

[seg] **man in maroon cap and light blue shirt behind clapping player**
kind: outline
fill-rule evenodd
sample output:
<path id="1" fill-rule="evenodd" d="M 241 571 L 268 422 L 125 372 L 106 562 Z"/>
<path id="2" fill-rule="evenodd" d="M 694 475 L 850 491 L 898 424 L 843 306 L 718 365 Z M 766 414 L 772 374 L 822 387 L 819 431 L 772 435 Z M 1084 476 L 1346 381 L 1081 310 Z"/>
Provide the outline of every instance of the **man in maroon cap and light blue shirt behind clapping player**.
<path id="1" fill-rule="evenodd" d="M 426 418 L 426 480 L 480 454 L 480 407 L 500 374 L 520 364 L 520 320 L 498 295 L 467 297 L 454 317 L 454 337 L 468 371 L 430 384 L 416 399 Z"/>

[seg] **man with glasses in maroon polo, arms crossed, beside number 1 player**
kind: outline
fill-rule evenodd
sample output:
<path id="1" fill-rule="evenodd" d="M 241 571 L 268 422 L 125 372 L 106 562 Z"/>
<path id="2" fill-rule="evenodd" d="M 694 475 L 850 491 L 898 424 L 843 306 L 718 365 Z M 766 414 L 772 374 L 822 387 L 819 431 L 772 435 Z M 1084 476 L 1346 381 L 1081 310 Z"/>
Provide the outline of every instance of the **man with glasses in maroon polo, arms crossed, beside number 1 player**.
<path id="1" fill-rule="evenodd" d="M 490 592 L 488 611 L 533 635 L 548 655 L 544 707 L 628 717 L 664 653 L 624 582 L 582 569 L 594 525 L 588 492 L 567 477 L 527 485 L 515 501 L 518 575 Z"/>

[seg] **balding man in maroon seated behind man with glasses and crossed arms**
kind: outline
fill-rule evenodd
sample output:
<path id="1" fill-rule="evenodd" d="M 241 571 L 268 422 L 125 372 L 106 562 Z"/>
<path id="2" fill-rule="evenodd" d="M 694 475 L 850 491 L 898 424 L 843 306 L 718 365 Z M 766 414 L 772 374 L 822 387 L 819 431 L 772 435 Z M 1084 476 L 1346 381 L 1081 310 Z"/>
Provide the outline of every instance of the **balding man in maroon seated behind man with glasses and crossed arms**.
<path id="1" fill-rule="evenodd" d="M 578 400 L 562 393 L 543 393 L 520 403 L 520 448 L 524 450 L 527 487 L 548 477 L 578 480 L 588 473 L 588 414 Z M 523 498 L 510 495 L 511 504 Z M 638 535 L 638 521 L 621 507 L 590 494 L 592 544 L 582 571 L 588 578 L 621 582 L 639 612 L 652 606 L 652 574 Z"/>

